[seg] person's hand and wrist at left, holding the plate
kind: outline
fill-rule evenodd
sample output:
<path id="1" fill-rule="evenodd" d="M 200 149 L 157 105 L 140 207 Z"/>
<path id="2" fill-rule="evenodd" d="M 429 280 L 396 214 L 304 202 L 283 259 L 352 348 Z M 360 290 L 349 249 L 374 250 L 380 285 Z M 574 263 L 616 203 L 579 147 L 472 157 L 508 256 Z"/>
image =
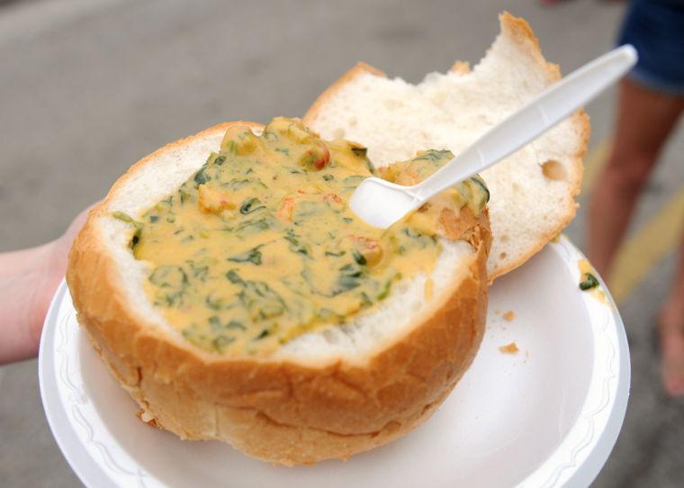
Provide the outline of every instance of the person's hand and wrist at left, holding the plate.
<path id="1" fill-rule="evenodd" d="M 58 239 L 0 253 L 0 365 L 38 354 L 45 314 L 90 208 L 79 213 Z"/>

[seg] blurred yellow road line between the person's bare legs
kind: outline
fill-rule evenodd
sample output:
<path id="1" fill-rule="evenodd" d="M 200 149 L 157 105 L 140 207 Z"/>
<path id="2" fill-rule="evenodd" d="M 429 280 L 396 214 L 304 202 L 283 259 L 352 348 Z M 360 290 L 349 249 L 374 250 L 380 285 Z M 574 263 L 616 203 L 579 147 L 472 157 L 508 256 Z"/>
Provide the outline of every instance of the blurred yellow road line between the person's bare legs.
<path id="1" fill-rule="evenodd" d="M 678 247 L 683 232 L 684 186 L 618 250 L 608 280 L 616 302 L 631 294 L 649 271 Z"/>

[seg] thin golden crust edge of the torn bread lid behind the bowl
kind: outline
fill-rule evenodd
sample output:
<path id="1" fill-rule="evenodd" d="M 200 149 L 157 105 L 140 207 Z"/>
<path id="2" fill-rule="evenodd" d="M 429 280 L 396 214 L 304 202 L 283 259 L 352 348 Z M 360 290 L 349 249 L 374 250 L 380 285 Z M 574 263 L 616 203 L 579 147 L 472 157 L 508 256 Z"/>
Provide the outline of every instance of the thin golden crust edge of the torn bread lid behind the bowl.
<path id="1" fill-rule="evenodd" d="M 503 12 L 500 14 L 500 30 L 505 32 L 512 39 L 514 39 L 527 55 L 533 59 L 539 68 L 541 68 L 548 78 L 549 84 L 554 83 L 561 79 L 561 69 L 557 64 L 547 62 L 542 54 L 542 50 L 539 46 L 539 41 L 537 40 L 532 28 L 525 19 L 515 17 L 508 12 Z M 470 73 L 471 68 L 467 62 L 457 60 L 449 69 L 450 72 L 458 75 L 467 75 Z M 327 104 L 329 98 L 333 97 L 338 93 L 338 91 L 345 86 L 347 83 L 354 80 L 356 77 L 372 75 L 375 77 L 386 77 L 385 73 L 378 68 L 366 64 L 364 62 L 356 63 L 354 68 L 351 68 L 339 77 L 331 86 L 329 86 L 316 101 L 311 105 L 309 110 L 304 114 L 302 120 L 305 124 L 311 125 L 319 116 L 320 111 L 323 109 L 325 104 Z M 508 266 L 496 267 L 493 272 L 490 273 L 489 281 L 490 283 L 494 281 L 499 276 L 503 276 L 513 269 L 524 264 L 527 259 L 532 258 L 537 252 L 545 247 L 545 245 L 554 239 L 575 217 L 577 212 L 578 204 L 575 203 L 575 199 L 581 190 L 581 181 L 584 167 L 582 165 L 582 159 L 587 152 L 587 144 L 590 138 L 590 121 L 587 113 L 583 109 L 577 111 L 571 116 L 572 124 L 575 130 L 581 134 L 580 144 L 578 146 L 577 152 L 571 156 L 572 158 L 572 172 L 569 176 L 569 189 L 568 194 L 570 198 L 568 199 L 568 205 L 565 212 L 560 217 L 558 224 L 552 228 L 549 228 L 545 234 L 536 241 L 535 245 L 527 248 L 526 252 L 521 253 L 518 259 L 510 262 Z"/>

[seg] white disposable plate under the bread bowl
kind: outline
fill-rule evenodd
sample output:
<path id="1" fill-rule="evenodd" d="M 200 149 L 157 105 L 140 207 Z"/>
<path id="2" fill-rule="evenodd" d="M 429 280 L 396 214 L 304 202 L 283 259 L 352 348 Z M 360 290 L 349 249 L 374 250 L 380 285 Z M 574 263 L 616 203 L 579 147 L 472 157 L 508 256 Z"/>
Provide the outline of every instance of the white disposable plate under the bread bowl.
<path id="1" fill-rule="evenodd" d="M 79 329 L 64 283 L 40 344 L 43 405 L 88 487 L 587 486 L 615 445 L 630 372 L 612 300 L 578 289 L 580 258 L 563 238 L 497 280 L 482 348 L 433 418 L 347 462 L 277 467 L 148 427 Z M 513 341 L 517 354 L 500 352 Z"/>

